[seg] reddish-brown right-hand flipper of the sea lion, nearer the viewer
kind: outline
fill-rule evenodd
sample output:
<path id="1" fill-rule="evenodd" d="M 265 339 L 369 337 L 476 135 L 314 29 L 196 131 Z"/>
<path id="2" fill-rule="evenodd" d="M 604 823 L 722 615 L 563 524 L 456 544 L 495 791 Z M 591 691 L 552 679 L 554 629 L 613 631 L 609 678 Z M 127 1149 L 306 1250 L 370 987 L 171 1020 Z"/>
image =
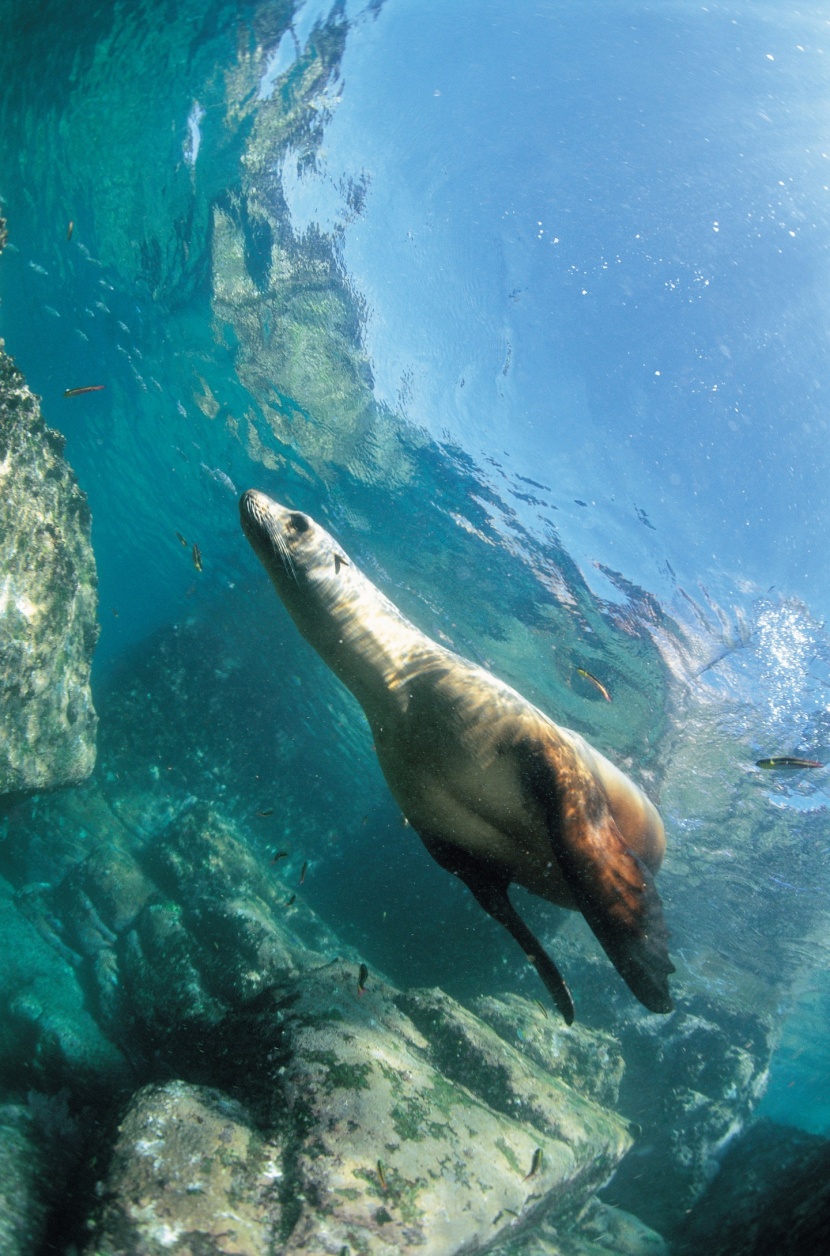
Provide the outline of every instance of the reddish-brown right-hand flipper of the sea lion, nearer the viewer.
<path id="1" fill-rule="evenodd" d="M 654 878 L 625 845 L 601 788 L 578 756 L 526 745 L 525 779 L 547 815 L 554 854 L 609 960 L 652 1012 L 671 1012 L 668 929 Z"/>

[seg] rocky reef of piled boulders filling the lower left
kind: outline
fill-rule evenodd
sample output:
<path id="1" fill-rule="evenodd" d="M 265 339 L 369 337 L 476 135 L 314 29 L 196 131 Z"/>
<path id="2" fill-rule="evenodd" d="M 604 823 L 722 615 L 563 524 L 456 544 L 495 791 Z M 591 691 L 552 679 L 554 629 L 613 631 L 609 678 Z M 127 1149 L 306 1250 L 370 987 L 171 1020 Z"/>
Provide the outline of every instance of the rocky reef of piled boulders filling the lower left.
<path id="1" fill-rule="evenodd" d="M 62 806 L 39 826 L 60 834 Z M 573 1226 L 632 1144 L 613 1040 L 519 997 L 475 1015 L 398 990 L 231 821 L 173 810 L 148 834 L 149 814 L 128 826 L 87 788 L 51 883 L 3 901 L 18 952 L 45 948 L 41 985 L 14 972 L 5 991 L 4 1076 L 34 1127 L 69 1096 L 58 1168 L 98 1166 L 77 1218 L 89 1256 L 451 1253 L 542 1216 Z M 31 1147 L 55 1159 L 54 1139 Z M 29 1233 L 50 1202 L 31 1193 Z"/>

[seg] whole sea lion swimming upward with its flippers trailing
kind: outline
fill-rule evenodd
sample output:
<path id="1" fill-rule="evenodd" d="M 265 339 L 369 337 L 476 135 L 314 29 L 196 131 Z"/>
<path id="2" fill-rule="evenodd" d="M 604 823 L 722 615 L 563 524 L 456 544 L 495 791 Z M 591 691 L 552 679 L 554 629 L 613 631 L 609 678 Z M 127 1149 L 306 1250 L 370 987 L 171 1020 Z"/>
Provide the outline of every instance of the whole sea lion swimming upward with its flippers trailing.
<path id="1" fill-rule="evenodd" d="M 579 734 L 431 641 L 309 515 L 249 490 L 240 517 L 294 623 L 363 707 L 404 816 L 516 938 L 568 1024 L 570 991 L 512 907 L 512 882 L 580 911 L 640 1002 L 671 1011 L 653 879 L 666 835 L 643 791 Z"/>

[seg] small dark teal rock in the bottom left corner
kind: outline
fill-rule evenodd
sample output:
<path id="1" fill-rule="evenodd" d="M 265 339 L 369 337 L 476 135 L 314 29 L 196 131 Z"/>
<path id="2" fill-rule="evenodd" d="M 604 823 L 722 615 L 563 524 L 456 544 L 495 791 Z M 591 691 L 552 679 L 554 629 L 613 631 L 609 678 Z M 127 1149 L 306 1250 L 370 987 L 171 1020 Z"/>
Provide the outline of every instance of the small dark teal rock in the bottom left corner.
<path id="1" fill-rule="evenodd" d="M 1 225 L 1 220 L 0 220 Z M 31 1113 L 0 1107 L 0 1252 L 36 1256 L 46 1228 L 45 1163 Z"/>

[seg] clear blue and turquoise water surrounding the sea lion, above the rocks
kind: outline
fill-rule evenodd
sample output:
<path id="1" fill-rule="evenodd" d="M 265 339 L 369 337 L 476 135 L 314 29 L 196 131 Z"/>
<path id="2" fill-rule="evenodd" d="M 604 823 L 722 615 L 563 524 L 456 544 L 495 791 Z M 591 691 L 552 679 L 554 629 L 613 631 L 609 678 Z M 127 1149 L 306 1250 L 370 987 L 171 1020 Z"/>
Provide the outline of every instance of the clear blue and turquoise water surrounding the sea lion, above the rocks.
<path id="1" fill-rule="evenodd" d="M 827 777 L 753 766 L 830 759 L 821 14 L 0 9 L 0 335 L 92 507 L 97 780 L 313 852 L 402 986 L 539 992 L 279 608 L 262 489 L 653 794 L 684 997 L 768 1017 L 760 1110 L 826 1134 Z"/>

